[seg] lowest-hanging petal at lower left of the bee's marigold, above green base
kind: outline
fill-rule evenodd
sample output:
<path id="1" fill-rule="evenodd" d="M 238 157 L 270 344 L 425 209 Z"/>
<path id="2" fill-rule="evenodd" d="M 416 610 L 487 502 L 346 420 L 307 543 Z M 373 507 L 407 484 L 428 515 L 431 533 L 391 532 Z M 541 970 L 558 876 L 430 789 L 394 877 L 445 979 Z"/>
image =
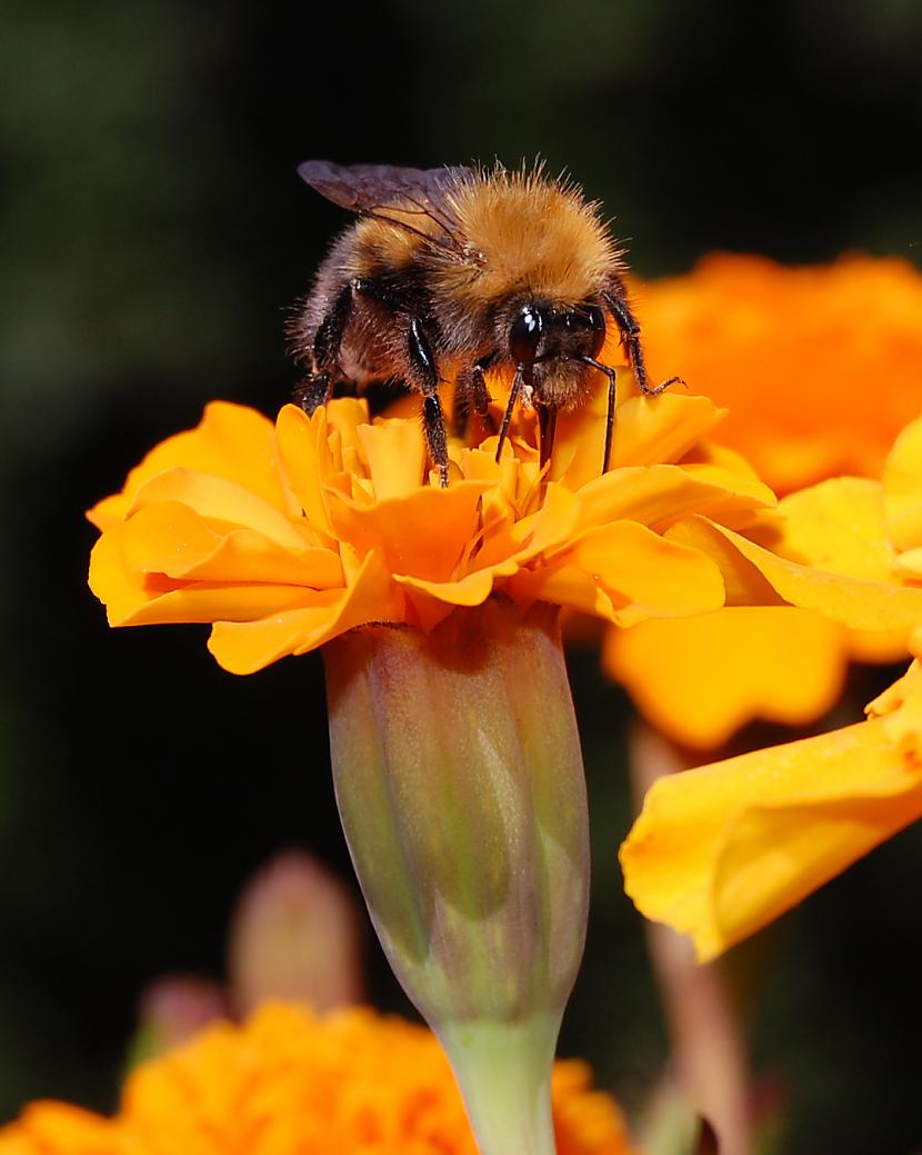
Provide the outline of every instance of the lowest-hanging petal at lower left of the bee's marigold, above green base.
<path id="1" fill-rule="evenodd" d="M 216 621 L 208 648 L 231 673 L 253 673 L 288 654 L 316 649 L 368 621 L 399 621 L 403 612 L 387 566 L 380 554 L 369 553 L 347 590 L 317 594 L 312 605 L 261 621 Z"/>

